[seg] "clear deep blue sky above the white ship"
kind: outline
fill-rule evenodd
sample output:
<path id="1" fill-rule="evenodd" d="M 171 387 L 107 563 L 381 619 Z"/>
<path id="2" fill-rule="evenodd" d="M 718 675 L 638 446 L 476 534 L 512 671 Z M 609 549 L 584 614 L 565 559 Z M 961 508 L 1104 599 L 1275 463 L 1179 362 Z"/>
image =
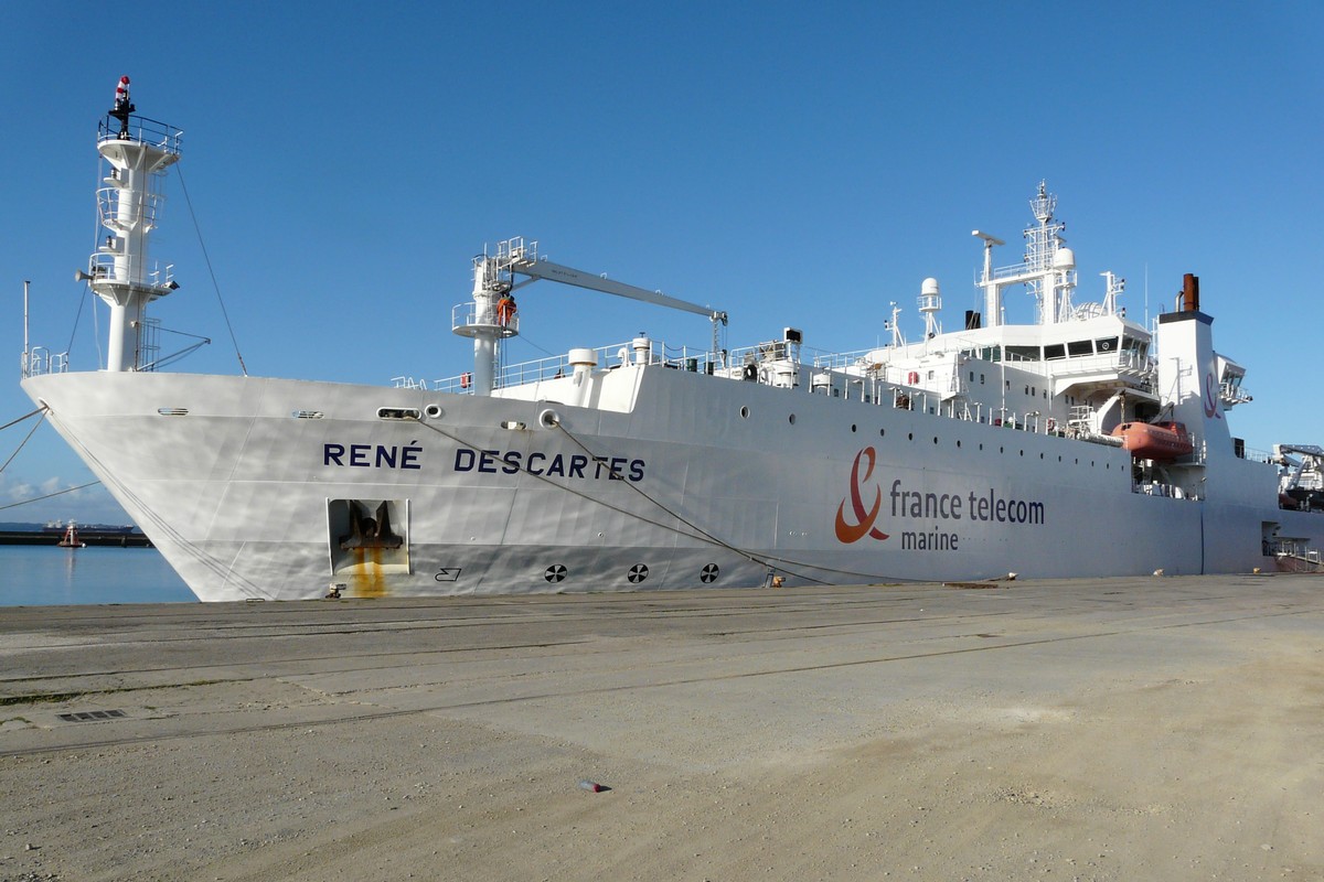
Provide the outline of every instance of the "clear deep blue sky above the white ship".
<path id="1" fill-rule="evenodd" d="M 731 346 L 794 325 L 859 349 L 892 300 L 919 333 L 925 276 L 949 324 L 977 307 L 970 230 L 1016 262 L 1046 179 L 1078 301 L 1113 270 L 1135 317 L 1196 272 L 1215 346 L 1249 369 L 1234 432 L 1324 443 L 1324 4 L 9 0 L 4 24 L 0 423 L 32 409 L 24 279 L 33 344 L 97 365 L 73 274 L 97 234 L 95 124 L 128 74 L 138 112 L 185 132 L 179 171 L 252 374 L 465 370 L 450 308 L 470 258 L 512 235 L 727 309 Z M 154 315 L 213 340 L 175 369 L 234 373 L 173 175 L 167 198 L 154 257 L 183 287 Z M 638 331 L 708 341 L 699 317 L 551 283 L 520 307 L 510 361 Z M 0 458 L 25 431 L 0 432 Z M 44 427 L 0 504 L 89 480 Z M 99 488 L 0 510 L 57 517 L 126 520 Z"/>

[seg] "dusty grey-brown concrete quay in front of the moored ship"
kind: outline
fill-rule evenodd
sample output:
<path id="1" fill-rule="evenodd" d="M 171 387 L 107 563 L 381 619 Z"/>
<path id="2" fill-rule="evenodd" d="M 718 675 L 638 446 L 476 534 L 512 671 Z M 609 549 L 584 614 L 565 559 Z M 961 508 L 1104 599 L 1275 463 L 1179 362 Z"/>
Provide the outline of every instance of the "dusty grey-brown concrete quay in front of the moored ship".
<path id="1" fill-rule="evenodd" d="M 0 877 L 1319 878 L 1321 636 L 1299 574 L 0 608 Z"/>

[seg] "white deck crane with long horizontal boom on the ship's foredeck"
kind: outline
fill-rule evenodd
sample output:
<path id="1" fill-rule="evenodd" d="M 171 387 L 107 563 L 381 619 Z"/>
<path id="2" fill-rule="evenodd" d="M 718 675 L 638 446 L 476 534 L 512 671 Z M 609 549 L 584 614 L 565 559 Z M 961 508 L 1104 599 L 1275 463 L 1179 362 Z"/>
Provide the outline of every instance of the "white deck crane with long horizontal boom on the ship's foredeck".
<path id="1" fill-rule="evenodd" d="M 516 280 L 516 276 L 524 278 Z M 516 237 L 498 242 L 495 255 L 485 250 L 474 258 L 474 300 L 451 311 L 451 331 L 474 340 L 471 383 L 475 395 L 490 395 L 495 386 L 496 341 L 519 333 L 511 292 L 539 279 L 704 316 L 712 323 L 712 352 L 719 352 L 718 325 L 727 324 L 726 312 L 553 263 L 538 257 L 538 242 L 526 245 L 523 237 Z"/>

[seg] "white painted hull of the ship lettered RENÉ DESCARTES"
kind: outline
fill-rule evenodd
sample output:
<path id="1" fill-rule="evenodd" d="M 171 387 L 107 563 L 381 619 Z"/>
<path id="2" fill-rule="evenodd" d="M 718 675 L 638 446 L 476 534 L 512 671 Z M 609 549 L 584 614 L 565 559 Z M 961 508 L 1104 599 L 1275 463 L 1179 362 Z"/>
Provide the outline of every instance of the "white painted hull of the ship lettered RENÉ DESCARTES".
<path id="1" fill-rule="evenodd" d="M 1262 463 L 1230 463 L 1246 499 L 1214 505 L 1133 492 L 1115 447 L 662 366 L 609 380 L 646 406 L 151 373 L 25 389 L 204 600 L 1250 571 L 1272 566 L 1266 521 L 1324 526 L 1276 508 Z M 342 500 L 389 500 L 402 547 L 342 549 Z M 875 502 L 843 542 L 838 517 Z"/>

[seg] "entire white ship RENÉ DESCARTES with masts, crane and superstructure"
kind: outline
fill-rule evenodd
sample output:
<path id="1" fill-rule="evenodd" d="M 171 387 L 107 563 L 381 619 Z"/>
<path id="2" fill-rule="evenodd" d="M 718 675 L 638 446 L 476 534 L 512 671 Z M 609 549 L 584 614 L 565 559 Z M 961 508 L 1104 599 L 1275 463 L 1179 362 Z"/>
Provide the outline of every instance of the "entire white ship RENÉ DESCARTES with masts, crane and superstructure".
<path id="1" fill-rule="evenodd" d="M 1014 263 L 973 231 L 981 308 L 959 327 L 922 282 L 916 340 L 894 305 L 855 352 L 794 327 L 719 348 L 724 311 L 516 237 L 474 258 L 451 311 L 473 364 L 453 376 L 167 370 L 147 307 L 179 286 L 150 238 L 181 132 L 122 85 L 97 131 L 103 238 L 78 274 L 109 307 L 105 368 L 25 342 L 21 382 L 203 600 L 1251 573 L 1324 543 L 1312 487 L 1287 487 L 1291 451 L 1317 448 L 1258 454 L 1230 430 L 1251 395 L 1198 276 L 1153 321 L 1127 316 L 1111 271 L 1087 300 L 1045 182 Z M 712 344 L 634 333 L 507 365 L 534 282 L 702 316 Z M 1009 290 L 1033 295 L 1031 321 L 1006 320 Z M 1127 426 L 1151 443 L 1128 447 Z"/>

